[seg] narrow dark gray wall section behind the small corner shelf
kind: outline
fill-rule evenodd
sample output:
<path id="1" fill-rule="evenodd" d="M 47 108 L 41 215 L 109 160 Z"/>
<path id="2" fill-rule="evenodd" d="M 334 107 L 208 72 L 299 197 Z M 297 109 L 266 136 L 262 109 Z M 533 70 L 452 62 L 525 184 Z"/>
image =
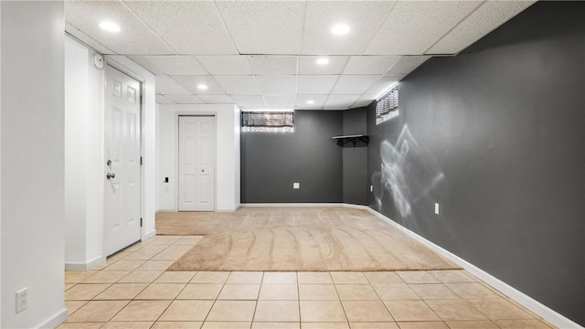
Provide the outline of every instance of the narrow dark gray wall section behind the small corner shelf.
<path id="1" fill-rule="evenodd" d="M 343 111 L 343 134 L 367 134 L 367 108 Z M 343 148 L 343 201 L 367 205 L 367 144 Z"/>

